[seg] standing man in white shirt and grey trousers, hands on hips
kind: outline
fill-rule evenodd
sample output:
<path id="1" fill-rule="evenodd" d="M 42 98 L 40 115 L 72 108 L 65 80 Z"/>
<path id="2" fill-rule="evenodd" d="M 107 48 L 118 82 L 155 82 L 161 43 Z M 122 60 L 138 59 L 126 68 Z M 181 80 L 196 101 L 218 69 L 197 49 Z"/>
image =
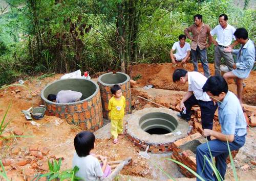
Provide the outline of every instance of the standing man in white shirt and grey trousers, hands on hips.
<path id="1" fill-rule="evenodd" d="M 226 14 L 221 14 L 219 16 L 219 25 L 210 31 L 211 36 L 217 35 L 216 40 L 212 38 L 212 42 L 215 44 L 215 54 L 214 54 L 214 62 L 215 62 L 215 75 L 221 75 L 221 58 L 225 60 L 226 66 L 228 70 L 233 70 L 234 59 L 231 53 L 227 53 L 224 51 L 224 48 L 230 46 L 233 48 L 237 41 L 231 44 L 232 39 L 236 40 L 234 37 L 234 32 L 236 28 L 232 27 L 227 23 L 228 17 Z"/>

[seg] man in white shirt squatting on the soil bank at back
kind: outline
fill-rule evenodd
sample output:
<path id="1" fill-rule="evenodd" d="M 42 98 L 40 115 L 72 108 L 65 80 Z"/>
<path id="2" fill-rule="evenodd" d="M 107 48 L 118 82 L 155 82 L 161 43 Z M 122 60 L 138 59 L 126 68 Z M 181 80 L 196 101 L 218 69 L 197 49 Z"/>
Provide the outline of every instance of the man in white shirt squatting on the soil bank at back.
<path id="1" fill-rule="evenodd" d="M 186 62 L 189 61 L 190 55 L 190 45 L 189 43 L 185 42 L 186 36 L 180 35 L 179 41 L 175 42 L 172 49 L 170 50 L 170 60 L 172 60 L 173 67 L 176 67 L 176 61 L 180 61 L 183 67 L 186 67 Z M 174 51 L 176 50 L 176 54 Z"/>

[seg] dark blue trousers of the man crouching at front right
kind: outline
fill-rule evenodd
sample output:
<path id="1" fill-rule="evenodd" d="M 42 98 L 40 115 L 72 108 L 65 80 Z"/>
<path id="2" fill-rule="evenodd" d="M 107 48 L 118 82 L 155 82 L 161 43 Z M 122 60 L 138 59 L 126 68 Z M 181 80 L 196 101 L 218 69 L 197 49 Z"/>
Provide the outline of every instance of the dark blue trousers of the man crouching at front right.
<path id="1" fill-rule="evenodd" d="M 241 137 L 235 136 L 234 141 L 229 143 L 230 151 L 238 150 L 244 145 L 244 143 L 245 135 Z M 216 168 L 224 180 L 227 168 L 226 159 L 229 156 L 227 142 L 216 139 L 209 141 L 208 144 L 212 157 L 215 157 Z M 204 156 L 206 156 L 209 161 L 211 161 L 210 152 L 207 143 L 201 144 L 197 147 L 197 173 L 205 180 L 217 180 L 216 175 L 213 174 L 210 165 L 204 158 Z M 197 178 L 197 180 L 200 179 Z"/>

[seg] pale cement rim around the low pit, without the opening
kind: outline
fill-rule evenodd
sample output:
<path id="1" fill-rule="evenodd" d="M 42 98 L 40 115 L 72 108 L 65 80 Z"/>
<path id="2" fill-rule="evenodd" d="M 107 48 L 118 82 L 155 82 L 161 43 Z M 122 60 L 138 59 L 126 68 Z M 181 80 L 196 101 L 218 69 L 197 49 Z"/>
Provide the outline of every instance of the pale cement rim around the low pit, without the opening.
<path id="1" fill-rule="evenodd" d="M 150 135 L 146 132 L 144 132 L 140 125 L 139 125 L 139 120 L 141 119 L 142 116 L 144 116 L 147 113 L 166 113 L 172 117 L 174 117 L 178 124 L 176 127 L 176 130 L 173 131 L 172 135 L 166 136 L 166 135 Z M 127 124 L 126 124 L 126 134 L 128 135 L 127 137 L 129 139 L 132 139 L 135 142 L 139 142 L 138 144 L 142 147 L 145 145 L 154 145 L 154 146 L 162 146 L 166 148 L 167 145 L 171 145 L 173 142 L 176 140 L 179 140 L 181 138 L 184 138 L 187 136 L 187 131 L 188 131 L 188 123 L 179 117 L 176 116 L 177 112 L 170 110 L 170 109 L 165 109 L 165 108 L 145 108 L 140 111 L 137 111 L 136 113 L 133 114 L 133 116 L 129 119 L 127 119 Z M 174 133 L 180 131 L 180 135 L 175 135 Z M 150 151 L 153 151 L 153 149 L 149 149 Z"/>

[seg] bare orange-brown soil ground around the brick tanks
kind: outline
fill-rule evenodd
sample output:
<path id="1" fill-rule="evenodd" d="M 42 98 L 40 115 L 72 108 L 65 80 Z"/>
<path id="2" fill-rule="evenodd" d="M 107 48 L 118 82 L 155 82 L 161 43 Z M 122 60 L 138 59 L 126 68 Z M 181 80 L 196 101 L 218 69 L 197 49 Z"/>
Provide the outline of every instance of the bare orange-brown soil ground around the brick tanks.
<path id="1" fill-rule="evenodd" d="M 187 69 L 192 70 L 193 65 L 188 64 Z M 210 65 L 211 73 L 213 65 Z M 137 81 L 137 85 L 132 89 L 134 101 L 136 95 L 141 95 L 146 98 L 151 98 L 154 101 L 166 107 L 170 105 L 171 101 L 177 101 L 176 98 L 182 97 L 183 91 L 186 91 L 187 85 L 178 87 L 172 82 L 172 68 L 171 64 L 142 64 L 132 67 L 132 77 L 140 74 L 142 77 Z M 202 68 L 199 69 L 202 71 Z M 12 134 L 22 135 L 20 138 L 9 138 L 0 140 L 0 159 L 3 161 L 10 161 L 9 166 L 5 166 L 9 178 L 12 180 L 31 180 L 33 175 L 38 173 L 45 173 L 48 171 L 48 159 L 62 158 L 61 169 L 69 169 L 72 167 L 72 158 L 74 153 L 73 139 L 75 135 L 81 131 L 79 127 L 68 124 L 65 120 L 57 117 L 45 116 L 41 120 L 36 120 L 39 126 L 32 125 L 27 121 L 22 110 L 27 110 L 30 107 L 36 107 L 41 104 L 40 91 L 49 83 L 58 80 L 61 74 L 56 74 L 45 79 L 38 79 L 31 77 L 25 81 L 25 86 L 12 86 L 7 89 L 0 90 L 0 120 L 3 119 L 4 114 L 9 105 L 5 123 L 10 121 L 6 127 L 2 137 L 9 137 Z M 246 88 L 244 91 L 244 102 L 250 105 L 256 105 L 256 87 L 253 86 L 256 72 L 251 72 L 250 77 L 245 80 Z M 141 87 L 153 84 L 156 90 L 145 92 Z M 229 83 L 231 91 L 235 91 L 235 85 L 232 81 Z M 13 91 L 19 89 L 20 92 Z M 166 89 L 166 90 L 164 90 Z M 169 93 L 169 90 L 171 93 Z M 177 90 L 177 91 L 175 91 Z M 147 101 L 140 100 L 134 108 L 142 109 L 143 107 L 153 107 Z M 155 106 L 154 106 L 155 107 Z M 255 166 L 250 162 L 255 159 L 254 149 L 256 143 L 255 129 L 251 128 L 248 132 L 248 143 L 241 151 L 241 155 L 237 156 L 237 169 L 239 175 L 248 175 L 248 178 L 255 178 Z M 139 148 L 135 147 L 126 137 L 119 140 L 119 143 L 114 145 L 111 139 L 97 139 L 96 148 L 94 152 L 107 156 L 108 160 L 121 160 L 127 157 L 132 157 L 132 163 L 126 166 L 122 174 L 131 176 L 142 176 L 143 178 L 152 178 L 151 168 L 146 160 L 138 156 Z M 253 158 L 254 155 L 254 158 Z M 9 159 L 9 160 L 8 160 Z M 249 164 L 250 170 L 242 170 L 241 167 Z M 7 164 L 8 165 L 8 164 Z M 241 167 L 240 167 L 241 166 Z M 232 172 L 231 169 L 228 169 Z M 231 175 L 231 174 L 230 174 Z M 231 176 L 229 176 L 231 178 Z M 243 180 L 247 180 L 243 179 Z M 248 179 L 252 180 L 252 179 Z"/>

